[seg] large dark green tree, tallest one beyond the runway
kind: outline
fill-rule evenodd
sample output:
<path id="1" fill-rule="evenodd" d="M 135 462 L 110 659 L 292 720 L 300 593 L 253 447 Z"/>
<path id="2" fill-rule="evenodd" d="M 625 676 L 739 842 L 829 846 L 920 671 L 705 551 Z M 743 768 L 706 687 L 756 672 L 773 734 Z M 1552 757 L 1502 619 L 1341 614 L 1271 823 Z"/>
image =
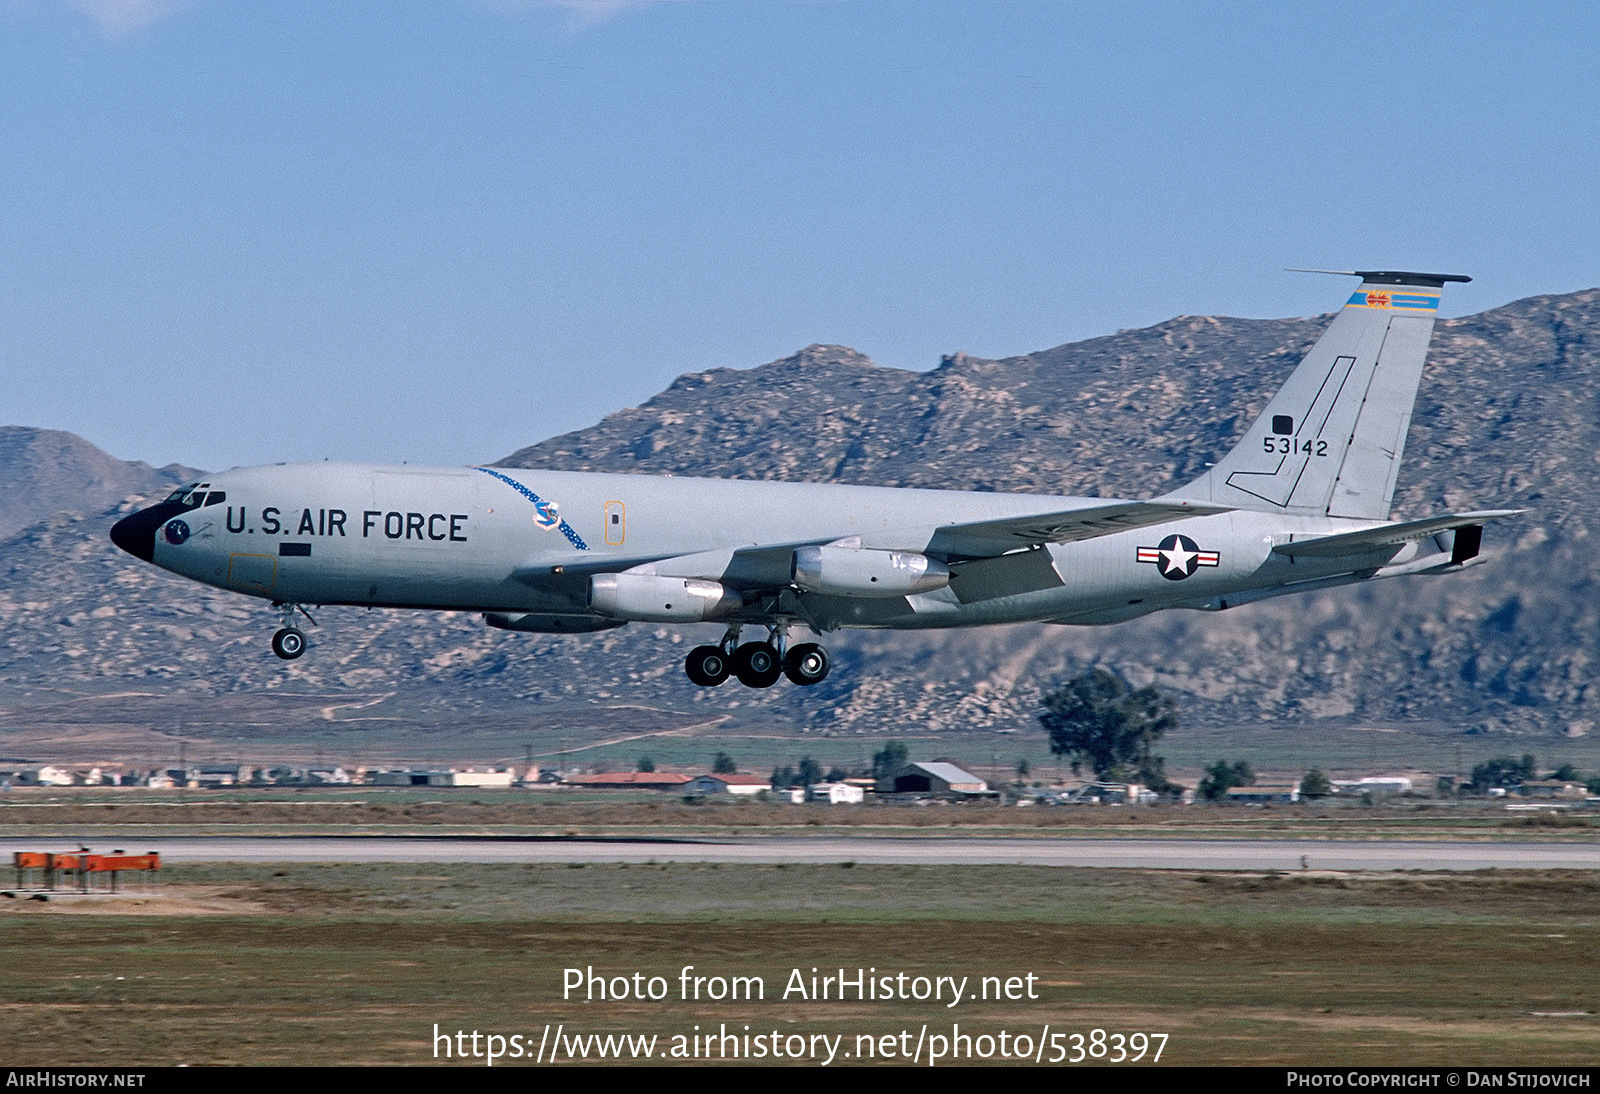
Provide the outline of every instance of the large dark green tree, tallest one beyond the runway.
<path id="1" fill-rule="evenodd" d="M 1178 704 L 1152 688 L 1134 689 L 1122 677 L 1091 669 L 1043 699 L 1038 721 L 1050 750 L 1067 757 L 1074 771 L 1088 763 L 1098 779 L 1138 779 L 1158 793 L 1182 787 L 1166 781 L 1166 761 L 1154 747 L 1178 728 Z"/>

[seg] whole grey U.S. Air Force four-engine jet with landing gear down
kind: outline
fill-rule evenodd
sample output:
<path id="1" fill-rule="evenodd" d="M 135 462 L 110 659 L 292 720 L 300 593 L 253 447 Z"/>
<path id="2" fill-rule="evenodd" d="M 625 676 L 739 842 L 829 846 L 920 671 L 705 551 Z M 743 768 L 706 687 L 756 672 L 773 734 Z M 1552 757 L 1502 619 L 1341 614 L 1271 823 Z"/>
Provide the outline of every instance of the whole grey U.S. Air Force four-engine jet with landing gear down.
<path id="1" fill-rule="evenodd" d="M 1114 624 L 1478 561 L 1485 521 L 1389 521 L 1411 405 L 1458 274 L 1354 272 L 1360 288 L 1238 445 L 1152 501 L 501 467 L 235 469 L 112 528 L 174 574 L 270 600 L 272 649 L 306 606 L 483 613 L 506 630 L 726 625 L 688 677 L 827 677 L 790 641 L 840 627 Z M 746 632 L 758 637 L 741 641 Z"/>

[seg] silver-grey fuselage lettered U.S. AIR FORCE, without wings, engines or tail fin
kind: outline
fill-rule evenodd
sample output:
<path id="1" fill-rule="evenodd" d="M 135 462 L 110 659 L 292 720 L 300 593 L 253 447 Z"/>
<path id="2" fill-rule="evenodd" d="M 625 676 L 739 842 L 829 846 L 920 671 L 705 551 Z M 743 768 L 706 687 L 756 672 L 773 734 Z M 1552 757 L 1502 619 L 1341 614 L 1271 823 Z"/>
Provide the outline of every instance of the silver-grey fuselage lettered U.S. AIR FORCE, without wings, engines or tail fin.
<path id="1" fill-rule="evenodd" d="M 784 585 L 800 545 L 859 537 L 862 550 L 922 553 L 939 526 L 1107 504 L 1040 494 L 347 464 L 237 469 L 211 475 L 205 494 L 218 501 L 192 509 L 168 502 L 174 509 L 165 520 L 146 521 L 149 561 L 274 601 L 574 616 L 590 614 L 590 574 L 654 560 L 694 557 L 701 560 L 696 576 L 734 587 Z M 950 585 L 934 592 L 789 595 L 795 614 L 816 630 L 1128 619 L 1187 603 L 1221 606 L 1210 600 L 1229 592 L 1378 569 L 1402 549 L 1330 560 L 1272 553 L 1291 534 L 1326 536 L 1374 523 L 1235 510 L 955 561 Z M 760 573 L 760 558 L 734 555 L 757 547 L 752 528 L 760 528 L 763 545 L 779 545 L 766 552 L 770 573 Z M 1192 541 L 1198 558 L 1165 565 L 1160 544 L 1173 534 Z M 726 563 L 707 565 L 704 557 L 717 552 L 728 552 Z"/>

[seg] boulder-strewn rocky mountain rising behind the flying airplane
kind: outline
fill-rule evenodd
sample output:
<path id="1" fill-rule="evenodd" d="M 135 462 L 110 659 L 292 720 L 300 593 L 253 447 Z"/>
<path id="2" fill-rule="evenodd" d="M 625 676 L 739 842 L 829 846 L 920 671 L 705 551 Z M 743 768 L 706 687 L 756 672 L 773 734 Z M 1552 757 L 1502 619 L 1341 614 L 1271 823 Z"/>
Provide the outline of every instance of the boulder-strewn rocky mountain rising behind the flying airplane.
<path id="1" fill-rule="evenodd" d="M 811 345 L 752 369 L 686 373 L 643 406 L 502 464 L 1144 497 L 1224 453 L 1325 323 L 1179 317 L 998 361 L 955 353 L 930 373 Z M 170 717 L 162 704 L 179 697 L 235 710 L 222 699 L 294 696 L 304 707 L 322 696 L 381 702 L 387 723 L 374 725 L 515 710 L 576 733 L 632 707 L 730 728 L 1013 729 L 1034 725 L 1040 693 L 1061 677 L 1106 664 L 1178 693 L 1197 723 L 1578 734 L 1600 710 L 1600 558 L 1587 542 L 1600 531 L 1597 430 L 1600 289 L 1445 320 L 1395 515 L 1531 510 L 1488 529 L 1486 565 L 1117 627 L 834 635 L 826 683 L 765 693 L 683 678 L 688 645 L 720 630 L 709 625 L 566 638 L 493 632 L 472 616 L 328 609 L 312 653 L 283 664 L 267 651 L 266 606 L 120 555 L 106 539 L 115 513 L 80 504 L 82 515 L 34 517 L 0 544 L 0 702 L 14 712 L 43 689 L 138 691 L 149 709 L 128 718 L 139 723 Z M 6 473 L 37 481 L 29 493 L 107 496 L 26 480 L 45 473 L 26 462 Z M 21 520 L 21 504 L 6 504 Z"/>

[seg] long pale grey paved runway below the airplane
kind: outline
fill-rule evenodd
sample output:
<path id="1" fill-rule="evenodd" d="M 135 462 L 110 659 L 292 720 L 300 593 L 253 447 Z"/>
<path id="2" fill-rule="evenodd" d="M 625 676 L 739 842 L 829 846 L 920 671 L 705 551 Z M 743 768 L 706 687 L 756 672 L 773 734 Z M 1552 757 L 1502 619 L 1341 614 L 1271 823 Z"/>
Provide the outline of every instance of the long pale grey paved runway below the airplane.
<path id="1" fill-rule="evenodd" d="M 181 862 L 722 862 L 862 865 L 1032 865 L 1123 870 L 1597 870 L 1592 843 L 1339 841 L 1339 840 L 986 840 L 986 838 L 386 838 L 205 836 L 94 833 L 96 852 L 160 851 Z M 70 841 L 10 838 L 11 851 L 72 851 Z"/>

